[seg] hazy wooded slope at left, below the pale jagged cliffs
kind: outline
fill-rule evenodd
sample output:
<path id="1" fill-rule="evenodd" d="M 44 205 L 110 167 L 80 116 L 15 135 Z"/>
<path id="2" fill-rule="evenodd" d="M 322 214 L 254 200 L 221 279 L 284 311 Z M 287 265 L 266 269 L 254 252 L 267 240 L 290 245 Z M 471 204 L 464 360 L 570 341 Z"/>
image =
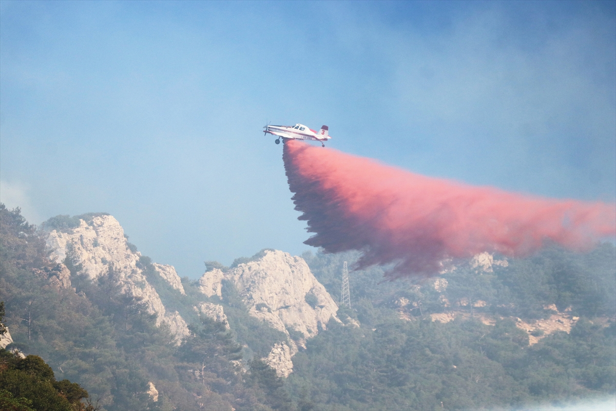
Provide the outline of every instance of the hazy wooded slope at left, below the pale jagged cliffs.
<path id="1" fill-rule="evenodd" d="M 288 405 L 274 370 L 256 360 L 246 372 L 235 362 L 241 346 L 220 323 L 193 322 L 177 346 L 168 327 L 156 327 L 140 301 L 115 293 L 108 277 L 94 283 L 73 272 L 73 288 L 54 287 L 44 236 L 19 210 L 0 205 L 0 213 L 0 299 L 14 340 L 7 349 L 43 357 L 57 379 L 81 384 L 99 409 Z"/>

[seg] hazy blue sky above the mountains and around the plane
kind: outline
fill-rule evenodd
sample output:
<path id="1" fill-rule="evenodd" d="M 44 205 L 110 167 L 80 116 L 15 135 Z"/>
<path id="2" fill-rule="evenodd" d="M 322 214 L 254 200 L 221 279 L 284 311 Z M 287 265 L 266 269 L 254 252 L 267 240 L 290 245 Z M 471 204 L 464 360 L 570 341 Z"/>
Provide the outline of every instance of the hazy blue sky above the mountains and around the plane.
<path id="1" fill-rule="evenodd" d="M 616 199 L 616 2 L 0 1 L 0 200 L 106 211 L 180 275 L 308 234 L 265 121 L 549 197 Z"/>

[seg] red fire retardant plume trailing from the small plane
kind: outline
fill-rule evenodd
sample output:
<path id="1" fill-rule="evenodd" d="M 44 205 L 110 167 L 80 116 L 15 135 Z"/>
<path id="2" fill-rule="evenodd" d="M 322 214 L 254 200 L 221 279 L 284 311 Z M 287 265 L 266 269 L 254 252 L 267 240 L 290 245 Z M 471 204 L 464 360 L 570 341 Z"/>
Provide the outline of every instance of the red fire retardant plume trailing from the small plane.
<path id="1" fill-rule="evenodd" d="M 433 275 L 483 251 L 524 256 L 549 239 L 583 251 L 616 234 L 616 205 L 473 187 L 290 140 L 283 159 L 305 243 L 362 251 L 357 268 L 394 263 L 389 279 Z"/>

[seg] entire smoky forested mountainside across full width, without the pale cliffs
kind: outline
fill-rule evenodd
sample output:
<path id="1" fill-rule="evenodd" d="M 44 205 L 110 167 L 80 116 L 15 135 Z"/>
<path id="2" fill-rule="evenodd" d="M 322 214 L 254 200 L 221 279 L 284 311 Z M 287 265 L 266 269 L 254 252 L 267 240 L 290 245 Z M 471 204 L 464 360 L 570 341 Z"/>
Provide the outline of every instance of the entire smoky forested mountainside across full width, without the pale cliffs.
<path id="1" fill-rule="evenodd" d="M 42 357 L 100 409 L 516 409 L 616 391 L 611 243 L 585 254 L 547 246 L 524 259 L 478 256 L 429 279 L 383 282 L 386 267 L 351 271 L 351 307 L 312 338 L 255 317 L 229 280 L 204 295 L 203 283 L 172 284 L 140 256 L 137 268 L 166 312 L 188 324 L 178 342 L 145 300 L 118 289 L 120 274 L 92 280 L 66 258 L 63 277 L 49 259 L 52 227 L 68 233 L 95 214 L 55 218 L 41 230 L 19 210 L 0 205 L 0 213 L 7 348 Z M 264 254 L 232 267 L 208 262 L 206 271 L 227 275 Z M 358 257 L 302 256 L 336 301 L 342 262 L 352 267 Z M 306 303 L 318 306 L 314 298 L 306 294 Z M 204 303 L 224 308 L 225 320 L 200 315 Z M 299 351 L 293 372 L 279 378 L 263 359 L 285 341 Z"/>

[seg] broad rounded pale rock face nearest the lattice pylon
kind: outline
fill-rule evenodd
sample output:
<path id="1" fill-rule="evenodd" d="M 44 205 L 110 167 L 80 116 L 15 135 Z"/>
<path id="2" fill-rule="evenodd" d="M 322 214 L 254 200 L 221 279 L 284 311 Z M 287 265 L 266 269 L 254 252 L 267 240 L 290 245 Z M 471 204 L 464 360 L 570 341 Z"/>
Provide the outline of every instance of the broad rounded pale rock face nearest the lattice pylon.
<path id="1" fill-rule="evenodd" d="M 304 259 L 283 251 L 265 250 L 255 261 L 239 264 L 227 272 L 214 269 L 201 277 L 201 291 L 221 295 L 222 280 L 231 282 L 249 314 L 288 335 L 301 332 L 306 338 L 326 328 L 338 306 L 314 277 Z M 307 296 L 311 304 L 306 302 Z"/>

